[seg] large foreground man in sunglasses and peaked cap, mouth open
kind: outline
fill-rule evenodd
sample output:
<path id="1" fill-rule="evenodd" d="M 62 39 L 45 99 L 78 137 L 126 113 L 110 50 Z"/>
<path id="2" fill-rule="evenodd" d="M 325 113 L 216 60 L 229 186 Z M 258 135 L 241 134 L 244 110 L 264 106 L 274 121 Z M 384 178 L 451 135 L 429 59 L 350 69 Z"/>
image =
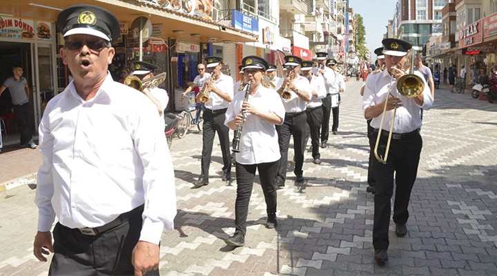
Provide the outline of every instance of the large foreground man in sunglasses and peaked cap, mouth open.
<path id="1" fill-rule="evenodd" d="M 55 252 L 50 275 L 158 275 L 159 242 L 164 226 L 173 228 L 176 196 L 157 108 L 108 72 L 110 41 L 120 33 L 114 14 L 70 6 L 57 29 L 74 81 L 48 102 L 39 125 L 33 253 L 46 262 Z"/>

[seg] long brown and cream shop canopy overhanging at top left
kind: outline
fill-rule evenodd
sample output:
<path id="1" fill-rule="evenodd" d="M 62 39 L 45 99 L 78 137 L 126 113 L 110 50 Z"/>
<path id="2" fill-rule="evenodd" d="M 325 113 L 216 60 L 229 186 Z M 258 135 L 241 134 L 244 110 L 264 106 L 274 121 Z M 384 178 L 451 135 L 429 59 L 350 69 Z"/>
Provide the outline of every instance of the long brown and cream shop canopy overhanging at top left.
<path id="1" fill-rule="evenodd" d="M 0 17 L 21 17 L 55 22 L 59 11 L 81 3 L 80 0 L 15 0 L 3 1 Z M 191 42 L 254 42 L 257 35 L 224 26 L 184 12 L 163 8 L 142 0 L 90 0 L 92 5 L 112 11 L 121 22 L 131 26 L 137 17 L 147 17 L 153 24 L 161 24 L 162 37 Z M 174 32 L 173 32 L 174 31 Z M 193 34 L 193 35 L 192 35 Z"/>

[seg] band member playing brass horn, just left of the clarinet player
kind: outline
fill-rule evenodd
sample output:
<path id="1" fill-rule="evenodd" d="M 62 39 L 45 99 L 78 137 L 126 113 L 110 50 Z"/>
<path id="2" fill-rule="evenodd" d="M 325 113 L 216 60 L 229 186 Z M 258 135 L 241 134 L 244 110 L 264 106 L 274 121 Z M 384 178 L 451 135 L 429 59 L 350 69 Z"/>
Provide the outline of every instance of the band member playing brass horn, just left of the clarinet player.
<path id="1" fill-rule="evenodd" d="M 208 170 L 211 166 L 211 154 L 215 132 L 220 139 L 223 159 L 222 181 L 231 183 L 231 157 L 229 150 L 229 129 L 224 126 L 224 113 L 233 98 L 233 78 L 221 72 L 224 64 L 220 57 L 207 57 L 206 68 L 213 78 L 207 81 L 203 92 L 197 95 L 197 102 L 202 97 L 208 97 L 204 110 L 204 128 L 202 129 L 202 161 L 199 179 L 195 181 L 194 188 L 200 188 L 208 184 Z"/>

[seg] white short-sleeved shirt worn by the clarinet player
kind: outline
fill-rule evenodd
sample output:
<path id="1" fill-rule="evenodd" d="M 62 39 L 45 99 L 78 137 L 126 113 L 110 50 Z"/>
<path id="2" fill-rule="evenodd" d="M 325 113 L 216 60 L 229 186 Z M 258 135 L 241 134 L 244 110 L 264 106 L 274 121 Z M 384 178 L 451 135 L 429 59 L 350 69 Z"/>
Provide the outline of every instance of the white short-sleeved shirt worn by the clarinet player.
<path id="1" fill-rule="evenodd" d="M 226 110 L 224 124 L 233 121 L 242 110 L 245 93 L 238 93 Z M 280 95 L 274 90 L 260 85 L 254 95 L 249 95 L 249 102 L 258 110 L 273 112 L 284 119 L 285 111 Z M 274 124 L 255 115 L 247 115 L 240 136 L 240 152 L 236 153 L 240 164 L 262 164 L 280 159 L 280 146 Z"/>

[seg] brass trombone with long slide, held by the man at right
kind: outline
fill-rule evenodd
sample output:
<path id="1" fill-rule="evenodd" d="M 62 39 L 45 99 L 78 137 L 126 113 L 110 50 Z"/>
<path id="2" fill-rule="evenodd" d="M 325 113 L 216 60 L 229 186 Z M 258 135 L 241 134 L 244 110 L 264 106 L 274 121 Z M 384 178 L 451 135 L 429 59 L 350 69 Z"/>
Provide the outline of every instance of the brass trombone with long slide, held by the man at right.
<path id="1" fill-rule="evenodd" d="M 400 79 L 397 82 L 397 91 L 400 93 L 400 95 L 408 98 L 415 98 L 421 95 L 422 91 L 425 90 L 425 83 L 423 80 L 413 74 L 414 70 L 414 51 L 411 50 L 410 53 L 411 57 L 409 57 L 410 63 L 411 63 L 411 68 L 409 69 L 409 74 L 403 75 L 400 77 Z M 407 53 L 409 55 L 409 52 Z M 407 59 L 406 63 L 409 64 L 409 58 Z M 388 153 L 390 150 L 390 142 L 391 142 L 391 136 L 392 136 L 392 130 L 393 130 L 393 124 L 395 123 L 395 115 L 397 111 L 397 105 L 393 108 L 393 115 L 392 115 L 392 121 L 390 124 L 390 133 L 387 139 L 387 147 L 385 148 L 385 153 L 384 153 L 384 158 L 380 157 L 378 155 L 378 145 L 380 144 L 380 136 L 382 132 L 382 126 L 383 126 L 383 121 L 385 117 L 385 113 L 387 112 L 387 105 L 388 105 L 388 98 L 391 95 L 391 83 L 393 81 L 393 72 L 391 74 L 391 79 L 390 79 L 390 86 L 388 88 L 388 94 L 387 94 L 387 99 L 385 99 L 384 103 L 384 108 L 383 108 L 383 114 L 382 114 L 382 119 L 380 121 L 380 129 L 378 130 L 378 137 L 376 137 L 376 144 L 374 148 L 374 155 L 376 159 L 381 163 L 381 164 L 387 164 L 387 157 Z M 393 95 L 392 95 L 393 96 Z"/>

